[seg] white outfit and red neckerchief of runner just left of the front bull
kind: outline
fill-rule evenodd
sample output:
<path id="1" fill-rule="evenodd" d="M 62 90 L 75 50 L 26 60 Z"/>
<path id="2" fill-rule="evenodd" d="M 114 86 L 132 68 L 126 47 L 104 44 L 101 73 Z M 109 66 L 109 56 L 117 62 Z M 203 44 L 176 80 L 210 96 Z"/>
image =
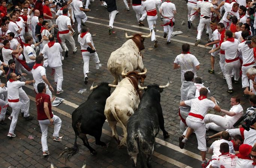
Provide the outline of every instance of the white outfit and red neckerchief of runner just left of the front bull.
<path id="1" fill-rule="evenodd" d="M 99 57 L 97 52 L 95 53 L 89 53 L 87 51 L 88 44 L 91 43 L 92 46 L 94 47 L 93 41 L 92 41 L 92 35 L 89 32 L 81 33 L 78 35 L 77 41 L 80 43 L 81 46 L 81 52 L 82 52 L 82 57 L 84 61 L 84 77 L 87 77 L 87 73 L 89 73 L 89 60 L 90 57 L 92 57 L 93 61 L 95 64 L 99 63 Z"/>

